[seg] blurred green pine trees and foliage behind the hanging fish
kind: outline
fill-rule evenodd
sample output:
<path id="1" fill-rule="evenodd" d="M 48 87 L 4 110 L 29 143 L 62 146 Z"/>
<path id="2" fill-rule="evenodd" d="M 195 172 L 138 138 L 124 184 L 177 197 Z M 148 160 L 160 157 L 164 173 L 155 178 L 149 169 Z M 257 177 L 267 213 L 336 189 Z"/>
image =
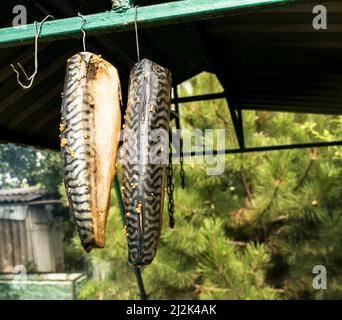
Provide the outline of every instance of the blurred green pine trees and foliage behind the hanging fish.
<path id="1" fill-rule="evenodd" d="M 208 73 L 179 87 L 181 96 L 221 90 Z M 228 129 L 226 148 L 237 147 L 225 100 L 182 104 L 180 114 L 182 128 Z M 342 136 L 338 116 L 243 111 L 243 121 L 248 147 Z M 65 200 L 58 153 L 8 144 L 0 159 L 1 188 L 38 184 Z M 141 270 L 149 298 L 342 299 L 341 164 L 340 147 L 232 154 L 218 176 L 185 165 L 184 190 L 174 165 L 176 226 L 165 206 L 157 256 Z M 92 275 L 78 298 L 139 299 L 114 191 L 105 249 L 85 254 L 64 220 L 66 271 Z M 315 265 L 327 268 L 327 290 L 312 286 Z"/>

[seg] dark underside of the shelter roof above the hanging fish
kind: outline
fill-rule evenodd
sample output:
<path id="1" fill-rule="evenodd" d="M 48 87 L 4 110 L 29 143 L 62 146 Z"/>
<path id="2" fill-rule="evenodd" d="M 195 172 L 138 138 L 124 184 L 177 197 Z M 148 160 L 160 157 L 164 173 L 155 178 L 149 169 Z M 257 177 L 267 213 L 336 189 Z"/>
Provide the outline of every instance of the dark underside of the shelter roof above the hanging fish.
<path id="1" fill-rule="evenodd" d="M 29 22 L 48 13 L 59 19 L 110 9 L 109 0 L 5 0 L 0 27 L 10 26 L 13 6 L 20 3 L 26 4 Z M 174 84 L 202 71 L 216 73 L 236 108 L 342 114 L 342 4 L 321 3 L 328 29 L 316 31 L 314 3 L 141 29 L 141 55 L 168 67 Z M 136 61 L 134 32 L 88 36 L 86 42 L 89 51 L 118 68 L 125 97 Z M 77 39 L 41 42 L 38 76 L 24 91 L 10 64 L 20 61 L 31 72 L 33 46 L 0 49 L 0 140 L 58 148 L 65 64 L 81 50 Z"/>

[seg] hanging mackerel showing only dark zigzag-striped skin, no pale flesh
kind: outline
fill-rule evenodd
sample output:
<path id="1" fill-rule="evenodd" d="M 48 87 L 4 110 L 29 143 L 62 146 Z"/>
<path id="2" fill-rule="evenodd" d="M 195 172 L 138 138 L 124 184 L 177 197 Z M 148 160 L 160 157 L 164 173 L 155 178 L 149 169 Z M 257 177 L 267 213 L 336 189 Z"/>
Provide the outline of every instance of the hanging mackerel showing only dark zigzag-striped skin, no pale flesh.
<path id="1" fill-rule="evenodd" d="M 170 107 L 171 73 L 147 59 L 137 63 L 130 75 L 122 149 L 128 264 L 134 267 L 153 261 L 160 238 L 168 154 L 166 162 L 149 157 L 168 151 Z M 166 139 L 151 139 L 156 130 Z"/>

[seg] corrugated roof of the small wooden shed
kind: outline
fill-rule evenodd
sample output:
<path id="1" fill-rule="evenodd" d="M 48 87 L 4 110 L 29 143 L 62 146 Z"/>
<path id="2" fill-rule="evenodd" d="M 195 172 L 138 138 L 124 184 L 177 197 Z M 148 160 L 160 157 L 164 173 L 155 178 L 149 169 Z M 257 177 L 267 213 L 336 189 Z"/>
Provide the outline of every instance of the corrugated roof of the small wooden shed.
<path id="1" fill-rule="evenodd" d="M 0 204 L 2 203 L 25 203 L 41 199 L 46 191 L 39 187 L 2 189 L 0 190 Z"/>

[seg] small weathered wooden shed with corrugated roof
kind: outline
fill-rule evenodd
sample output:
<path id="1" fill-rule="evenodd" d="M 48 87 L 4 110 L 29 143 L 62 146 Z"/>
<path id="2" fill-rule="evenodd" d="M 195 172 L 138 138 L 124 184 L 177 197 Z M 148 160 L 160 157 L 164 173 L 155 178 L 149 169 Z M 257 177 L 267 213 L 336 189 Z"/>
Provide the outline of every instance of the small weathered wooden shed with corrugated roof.
<path id="1" fill-rule="evenodd" d="M 27 272 L 63 270 L 62 218 L 52 215 L 58 205 L 38 187 L 0 190 L 0 273 L 20 265 Z"/>

